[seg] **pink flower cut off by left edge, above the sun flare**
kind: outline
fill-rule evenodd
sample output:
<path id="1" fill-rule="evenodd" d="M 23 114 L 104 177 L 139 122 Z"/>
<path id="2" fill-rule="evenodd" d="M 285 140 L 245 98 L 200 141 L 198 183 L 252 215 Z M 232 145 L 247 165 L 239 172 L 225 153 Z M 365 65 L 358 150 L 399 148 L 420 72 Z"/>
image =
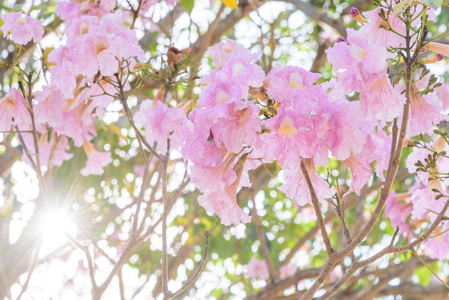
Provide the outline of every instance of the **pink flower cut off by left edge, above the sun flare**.
<path id="1" fill-rule="evenodd" d="M 16 89 L 10 89 L 0 98 L 0 131 L 9 131 L 11 125 L 31 124 L 28 102 Z"/>

